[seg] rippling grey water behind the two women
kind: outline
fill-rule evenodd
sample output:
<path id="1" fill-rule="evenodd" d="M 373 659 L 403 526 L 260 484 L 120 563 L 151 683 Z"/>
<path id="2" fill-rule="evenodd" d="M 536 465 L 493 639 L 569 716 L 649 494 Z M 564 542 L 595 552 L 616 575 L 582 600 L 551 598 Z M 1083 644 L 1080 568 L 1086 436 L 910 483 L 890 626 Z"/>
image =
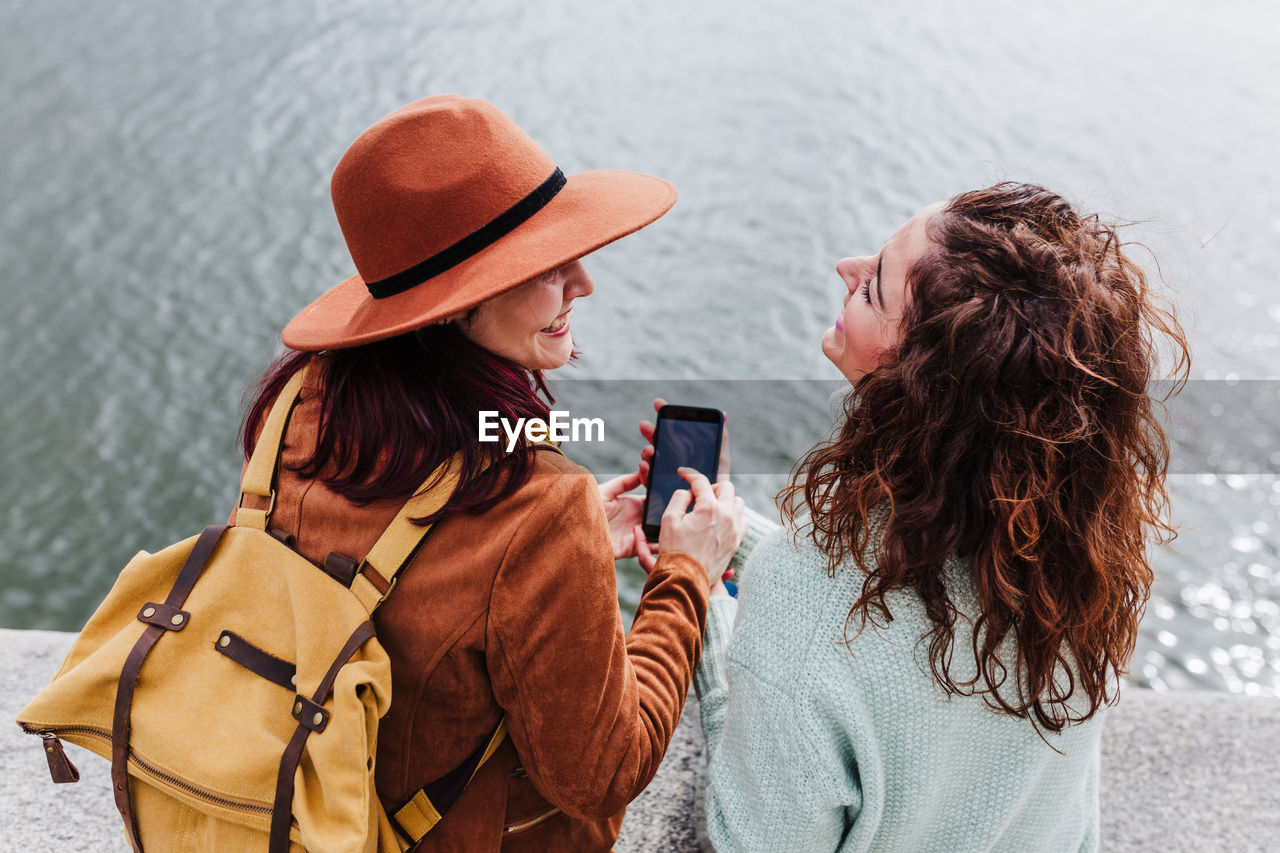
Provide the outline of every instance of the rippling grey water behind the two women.
<path id="1" fill-rule="evenodd" d="M 225 517 L 246 387 L 352 272 L 330 170 L 429 93 L 488 97 L 566 172 L 680 188 L 590 259 L 567 379 L 837 379 L 818 348 L 835 261 L 1005 178 L 1143 223 L 1196 379 L 1280 378 L 1280 12 L 901 5 L 5 3 L 0 625 L 78 628 L 137 548 Z M 745 447 L 822 430 L 788 400 L 689 402 L 730 411 Z M 645 409 L 611 412 L 623 450 L 584 461 L 622 470 Z M 1222 441 L 1170 478 L 1183 533 L 1153 553 L 1146 684 L 1280 688 L 1272 412 L 1244 435 L 1219 405 Z M 769 459 L 741 480 L 762 510 L 790 462 Z M 625 608 L 640 581 L 621 566 Z"/>

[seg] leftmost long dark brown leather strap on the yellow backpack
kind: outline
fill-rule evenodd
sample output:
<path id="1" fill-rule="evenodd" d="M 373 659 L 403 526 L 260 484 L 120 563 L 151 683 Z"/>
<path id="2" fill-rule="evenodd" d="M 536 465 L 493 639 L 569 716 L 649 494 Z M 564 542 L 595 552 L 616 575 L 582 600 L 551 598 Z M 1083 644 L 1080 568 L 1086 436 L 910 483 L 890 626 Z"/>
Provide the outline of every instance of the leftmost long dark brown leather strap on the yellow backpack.
<path id="1" fill-rule="evenodd" d="M 196 544 L 178 571 L 178 579 L 174 581 L 173 589 L 169 590 L 169 596 L 164 601 L 165 607 L 172 608 L 170 612 L 179 611 L 183 603 L 186 603 L 187 596 L 191 594 L 192 588 L 209 564 L 210 555 L 214 553 L 214 548 L 225 530 L 227 525 L 210 525 L 196 539 Z M 138 619 L 142 619 L 142 613 L 138 613 Z M 186 628 L 186 619 L 180 626 Z M 173 628 L 178 626 L 174 625 Z M 142 637 L 133 644 L 129 656 L 124 660 L 124 667 L 120 670 L 120 680 L 115 688 L 115 711 L 111 715 L 111 788 L 115 795 L 115 807 L 120 812 L 120 818 L 124 820 L 124 831 L 129 839 L 129 847 L 136 853 L 142 853 L 142 841 L 138 840 L 137 821 L 133 817 L 133 803 L 129 800 L 129 717 L 133 712 L 133 690 L 138 685 L 142 662 L 147 660 L 147 654 L 151 653 L 151 649 L 166 630 L 172 630 L 172 628 L 151 622 L 142 631 Z"/>

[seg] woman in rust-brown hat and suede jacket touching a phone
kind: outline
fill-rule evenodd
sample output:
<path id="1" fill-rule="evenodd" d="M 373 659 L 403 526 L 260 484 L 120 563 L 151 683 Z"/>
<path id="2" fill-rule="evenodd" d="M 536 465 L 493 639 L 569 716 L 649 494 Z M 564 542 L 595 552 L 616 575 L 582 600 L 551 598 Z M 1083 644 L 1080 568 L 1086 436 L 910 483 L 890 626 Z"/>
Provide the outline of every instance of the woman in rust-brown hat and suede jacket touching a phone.
<path id="1" fill-rule="evenodd" d="M 680 717 L 741 501 L 690 475 L 694 511 L 690 492 L 672 501 L 623 637 L 613 561 L 635 552 L 639 512 L 620 496 L 639 475 L 598 487 L 524 435 L 494 453 L 477 416 L 548 418 L 541 371 L 568 361 L 573 302 L 594 289 L 580 259 L 660 216 L 675 190 L 627 172 L 566 178 L 493 105 L 445 96 L 362 133 L 333 199 L 358 272 L 284 329 L 246 448 L 306 368 L 271 519 L 317 565 L 358 564 L 431 471 L 460 464 L 375 613 L 394 685 L 383 806 L 394 817 L 504 717 L 509 736 L 416 849 L 607 850 Z"/>

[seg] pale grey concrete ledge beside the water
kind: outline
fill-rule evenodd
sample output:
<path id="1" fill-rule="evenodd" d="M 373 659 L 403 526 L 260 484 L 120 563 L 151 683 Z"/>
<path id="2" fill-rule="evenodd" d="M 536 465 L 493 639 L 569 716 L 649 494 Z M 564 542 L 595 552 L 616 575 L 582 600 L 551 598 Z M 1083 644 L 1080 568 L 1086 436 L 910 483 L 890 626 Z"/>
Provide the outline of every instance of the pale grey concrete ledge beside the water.
<path id="1" fill-rule="evenodd" d="M 77 785 L 54 785 L 13 717 L 58 669 L 73 634 L 0 629 L 0 850 L 127 853 L 105 761 L 68 745 Z M 618 853 L 698 850 L 701 761 L 690 698 L 658 776 L 632 803 Z M 1130 688 L 1103 734 L 1106 850 L 1280 849 L 1280 701 Z"/>

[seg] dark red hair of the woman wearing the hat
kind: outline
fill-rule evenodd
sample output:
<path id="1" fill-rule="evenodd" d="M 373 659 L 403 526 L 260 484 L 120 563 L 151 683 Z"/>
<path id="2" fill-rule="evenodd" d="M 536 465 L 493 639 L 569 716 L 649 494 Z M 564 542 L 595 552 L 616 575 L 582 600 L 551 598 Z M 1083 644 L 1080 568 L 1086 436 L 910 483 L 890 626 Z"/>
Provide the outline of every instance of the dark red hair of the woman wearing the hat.
<path id="1" fill-rule="evenodd" d="M 306 365 L 319 373 L 320 420 L 315 452 L 297 471 L 357 505 L 407 498 L 461 452 L 460 487 L 436 516 L 493 506 L 529 479 L 534 448 L 521 434 L 515 452 L 481 474 L 479 412 L 497 411 L 511 423 L 547 420 L 554 402 L 540 370 L 472 343 L 454 324 L 323 353 L 289 351 L 252 392 L 242 429 L 246 459 L 271 402 Z"/>

